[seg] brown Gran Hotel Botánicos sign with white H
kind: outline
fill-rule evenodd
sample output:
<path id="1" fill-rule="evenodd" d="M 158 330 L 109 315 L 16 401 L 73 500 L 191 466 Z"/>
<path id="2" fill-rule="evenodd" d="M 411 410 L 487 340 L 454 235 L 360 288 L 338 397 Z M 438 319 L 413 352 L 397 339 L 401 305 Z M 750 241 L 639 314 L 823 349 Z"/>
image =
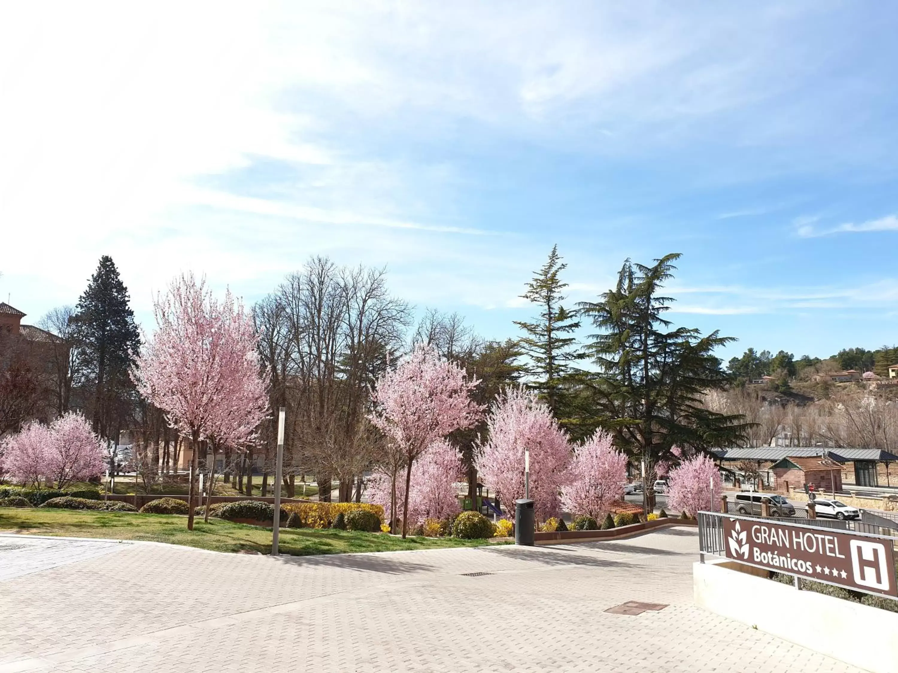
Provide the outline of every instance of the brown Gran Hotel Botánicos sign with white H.
<path id="1" fill-rule="evenodd" d="M 770 520 L 722 519 L 727 558 L 847 589 L 898 597 L 890 539 Z"/>

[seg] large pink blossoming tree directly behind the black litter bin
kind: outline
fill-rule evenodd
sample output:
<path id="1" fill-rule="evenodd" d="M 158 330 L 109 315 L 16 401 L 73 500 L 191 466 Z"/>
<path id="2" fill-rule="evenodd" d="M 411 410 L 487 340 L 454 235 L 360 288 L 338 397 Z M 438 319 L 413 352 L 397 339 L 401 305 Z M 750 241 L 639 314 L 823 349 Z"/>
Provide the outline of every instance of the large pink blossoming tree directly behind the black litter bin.
<path id="1" fill-rule="evenodd" d="M 530 450 L 530 497 L 536 517 L 559 512 L 561 486 L 568 481 L 570 443 L 548 406 L 533 392 L 507 389 L 487 416 L 489 440 L 480 445 L 477 470 L 511 514 L 524 497 L 524 450 Z"/>

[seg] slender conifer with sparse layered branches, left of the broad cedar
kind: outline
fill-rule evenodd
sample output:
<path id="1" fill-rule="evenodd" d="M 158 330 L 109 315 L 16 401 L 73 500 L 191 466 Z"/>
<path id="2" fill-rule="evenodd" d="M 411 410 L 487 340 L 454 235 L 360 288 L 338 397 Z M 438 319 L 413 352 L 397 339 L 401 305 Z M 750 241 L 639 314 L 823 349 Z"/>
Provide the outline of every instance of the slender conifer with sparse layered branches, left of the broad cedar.
<path id="1" fill-rule="evenodd" d="M 564 382 L 570 372 L 570 364 L 578 359 L 573 346 L 576 337 L 570 337 L 580 327 L 573 311 L 564 308 L 566 299 L 562 291 L 568 286 L 560 278 L 567 264 L 561 263 L 558 246 L 553 246 L 549 259 L 535 272 L 521 296 L 540 307 L 540 315 L 534 322 L 515 320 L 515 325 L 527 334 L 518 343 L 524 354 L 530 357 L 527 373 L 533 377 L 530 386 L 540 392 L 556 416 L 565 415 Z"/>

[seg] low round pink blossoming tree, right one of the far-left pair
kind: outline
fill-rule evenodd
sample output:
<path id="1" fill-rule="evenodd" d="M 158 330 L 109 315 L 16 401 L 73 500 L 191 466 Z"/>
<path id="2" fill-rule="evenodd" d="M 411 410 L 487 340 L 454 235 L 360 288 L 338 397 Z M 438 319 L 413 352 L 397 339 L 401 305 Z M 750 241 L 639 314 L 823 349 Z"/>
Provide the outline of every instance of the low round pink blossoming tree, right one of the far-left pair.
<path id="1" fill-rule="evenodd" d="M 49 427 L 46 476 L 57 488 L 100 475 L 105 467 L 102 442 L 83 415 L 69 412 Z"/>

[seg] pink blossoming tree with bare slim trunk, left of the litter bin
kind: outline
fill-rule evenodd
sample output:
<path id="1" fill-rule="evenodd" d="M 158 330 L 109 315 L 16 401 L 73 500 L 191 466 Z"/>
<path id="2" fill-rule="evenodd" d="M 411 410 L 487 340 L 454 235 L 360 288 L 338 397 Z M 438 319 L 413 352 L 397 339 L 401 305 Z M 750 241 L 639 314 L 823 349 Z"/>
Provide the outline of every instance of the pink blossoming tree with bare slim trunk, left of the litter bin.
<path id="1" fill-rule="evenodd" d="M 414 463 L 435 441 L 477 423 L 482 410 L 470 397 L 477 384 L 477 380 L 468 380 L 461 367 L 446 361 L 429 345 L 416 346 L 395 370 L 385 372 L 377 381 L 371 422 L 387 435 L 405 467 L 403 538 L 408 533 Z M 392 481 L 395 483 L 395 478 Z M 395 491 L 395 485 L 391 490 Z M 395 497 L 391 501 L 395 503 Z"/>

